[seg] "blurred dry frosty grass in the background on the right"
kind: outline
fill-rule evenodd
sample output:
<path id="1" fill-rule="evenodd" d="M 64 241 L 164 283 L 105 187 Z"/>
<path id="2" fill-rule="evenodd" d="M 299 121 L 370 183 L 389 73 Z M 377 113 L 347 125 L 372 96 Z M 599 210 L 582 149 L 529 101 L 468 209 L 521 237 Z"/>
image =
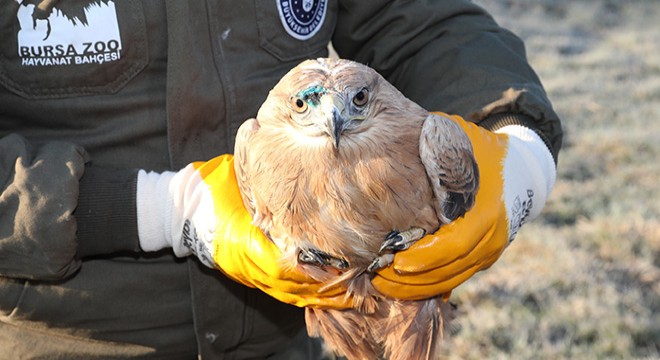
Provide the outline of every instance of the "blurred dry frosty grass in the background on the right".
<path id="1" fill-rule="evenodd" d="M 660 2 L 480 0 L 563 120 L 540 219 L 453 295 L 456 359 L 660 358 Z"/>

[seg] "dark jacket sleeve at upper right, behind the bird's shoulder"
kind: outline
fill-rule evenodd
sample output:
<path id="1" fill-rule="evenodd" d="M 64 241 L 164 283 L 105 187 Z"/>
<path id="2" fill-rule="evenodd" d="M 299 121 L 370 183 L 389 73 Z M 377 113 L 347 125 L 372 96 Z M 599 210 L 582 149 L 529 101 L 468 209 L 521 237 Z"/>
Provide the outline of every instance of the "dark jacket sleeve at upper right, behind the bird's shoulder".
<path id="1" fill-rule="evenodd" d="M 429 111 L 461 115 L 491 130 L 530 126 L 557 158 L 560 121 L 522 41 L 477 5 L 340 0 L 333 45 Z"/>

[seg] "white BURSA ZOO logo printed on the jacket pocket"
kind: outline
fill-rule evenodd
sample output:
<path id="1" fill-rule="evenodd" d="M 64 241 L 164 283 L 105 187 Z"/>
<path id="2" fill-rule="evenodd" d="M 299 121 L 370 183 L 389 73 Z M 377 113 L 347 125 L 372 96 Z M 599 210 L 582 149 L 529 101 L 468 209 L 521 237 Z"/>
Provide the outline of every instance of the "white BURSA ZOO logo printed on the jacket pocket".
<path id="1" fill-rule="evenodd" d="M 83 5 L 80 5 L 83 6 Z M 122 43 L 115 3 L 91 4 L 81 19 L 54 7 L 47 19 L 33 16 L 35 6 L 20 6 L 18 56 L 23 66 L 102 64 L 121 58 Z"/>

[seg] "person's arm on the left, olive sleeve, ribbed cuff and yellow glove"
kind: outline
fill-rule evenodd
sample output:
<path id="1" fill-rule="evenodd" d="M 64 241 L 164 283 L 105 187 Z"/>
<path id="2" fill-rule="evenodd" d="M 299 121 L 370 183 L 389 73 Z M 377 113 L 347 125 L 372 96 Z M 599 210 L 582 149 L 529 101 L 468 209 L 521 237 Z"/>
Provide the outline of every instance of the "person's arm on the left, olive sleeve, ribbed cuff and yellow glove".
<path id="1" fill-rule="evenodd" d="M 0 276 L 60 280 L 87 256 L 171 247 L 283 302 L 346 304 L 344 289 L 318 292 L 319 283 L 280 268 L 277 247 L 251 225 L 230 155 L 138 176 L 86 166 L 84 149 L 68 142 L 33 145 L 14 134 L 0 139 L 0 154 Z"/>

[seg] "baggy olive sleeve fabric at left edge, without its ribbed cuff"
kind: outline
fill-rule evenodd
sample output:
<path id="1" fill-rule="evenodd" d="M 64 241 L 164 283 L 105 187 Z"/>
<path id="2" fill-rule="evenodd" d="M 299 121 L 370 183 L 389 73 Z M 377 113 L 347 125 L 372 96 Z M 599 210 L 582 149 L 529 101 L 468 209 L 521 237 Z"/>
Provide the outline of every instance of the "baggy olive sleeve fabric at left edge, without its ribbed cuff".
<path id="1" fill-rule="evenodd" d="M 72 214 L 87 160 L 71 143 L 0 139 L 0 276 L 61 280 L 78 270 Z"/>

